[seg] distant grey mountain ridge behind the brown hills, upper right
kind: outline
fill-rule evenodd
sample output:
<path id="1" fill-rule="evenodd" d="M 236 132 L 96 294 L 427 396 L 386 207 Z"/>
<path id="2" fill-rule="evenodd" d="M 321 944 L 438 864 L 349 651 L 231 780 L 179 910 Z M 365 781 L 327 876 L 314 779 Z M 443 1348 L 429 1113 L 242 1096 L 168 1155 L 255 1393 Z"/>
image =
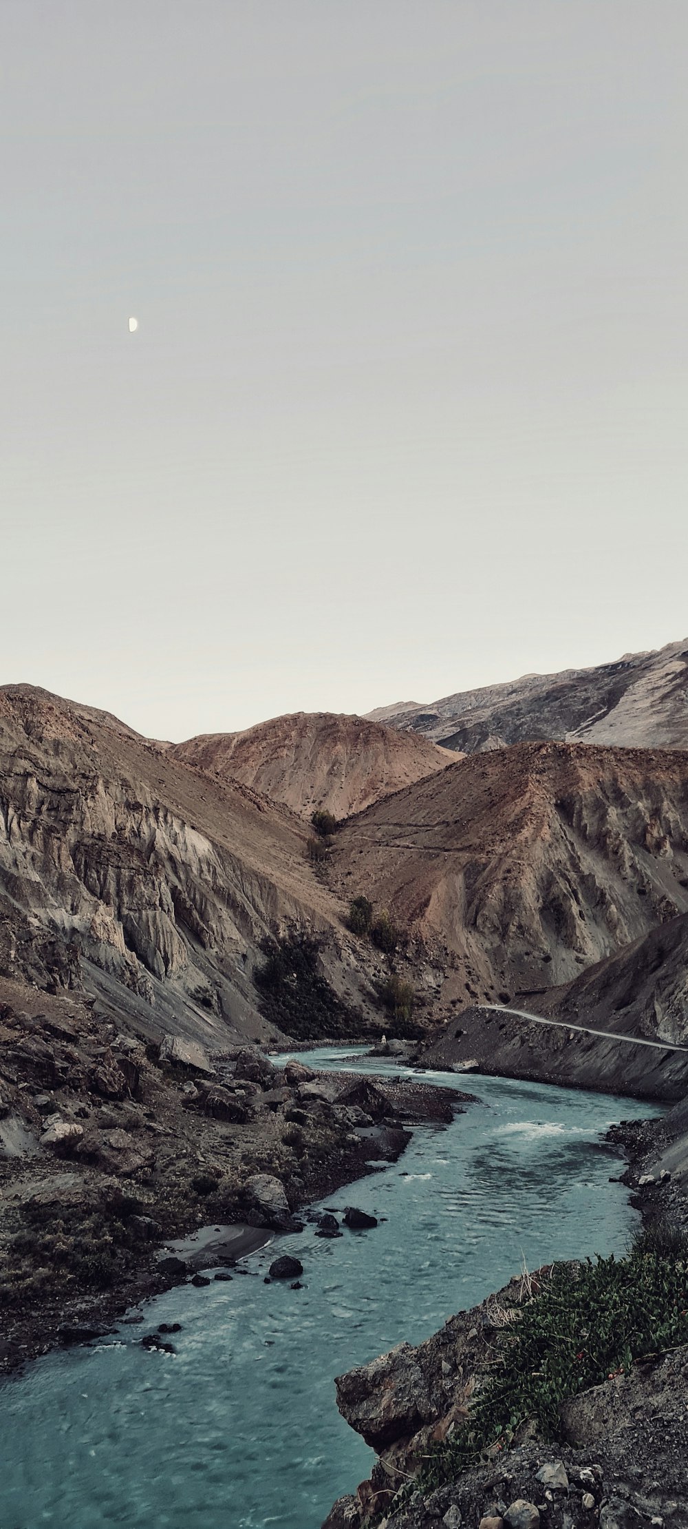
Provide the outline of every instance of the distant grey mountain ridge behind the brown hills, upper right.
<path id="1" fill-rule="evenodd" d="M 534 739 L 618 748 L 688 748 L 688 639 L 656 653 L 506 685 L 459 691 L 430 705 L 401 702 L 375 722 L 474 754 Z"/>

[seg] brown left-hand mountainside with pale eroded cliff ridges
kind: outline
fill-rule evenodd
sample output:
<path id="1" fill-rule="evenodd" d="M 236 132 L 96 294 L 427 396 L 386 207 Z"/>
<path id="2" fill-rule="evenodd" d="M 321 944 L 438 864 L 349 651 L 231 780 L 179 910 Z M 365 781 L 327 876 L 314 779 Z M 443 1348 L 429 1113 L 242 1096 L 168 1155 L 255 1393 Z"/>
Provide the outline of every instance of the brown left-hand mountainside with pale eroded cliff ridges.
<path id="1" fill-rule="evenodd" d="M 286 807 L 31 687 L 0 690 L 0 977 L 78 983 L 144 1026 L 266 1034 L 260 942 L 323 933 L 338 904 Z"/>

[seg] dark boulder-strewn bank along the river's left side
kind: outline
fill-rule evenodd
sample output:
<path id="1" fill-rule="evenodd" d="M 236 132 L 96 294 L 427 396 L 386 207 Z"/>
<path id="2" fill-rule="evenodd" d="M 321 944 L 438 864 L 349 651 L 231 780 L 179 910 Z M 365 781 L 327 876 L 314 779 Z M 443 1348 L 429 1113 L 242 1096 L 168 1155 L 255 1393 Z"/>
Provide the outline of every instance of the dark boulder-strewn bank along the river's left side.
<path id="1" fill-rule="evenodd" d="M 0 1009 L 0 1373 L 193 1275 L 165 1245 L 202 1226 L 245 1226 L 252 1245 L 295 1231 L 300 1206 L 471 1098 L 278 1069 L 252 1046 L 144 1044 L 93 1003 L 35 989 L 21 1005 Z"/>

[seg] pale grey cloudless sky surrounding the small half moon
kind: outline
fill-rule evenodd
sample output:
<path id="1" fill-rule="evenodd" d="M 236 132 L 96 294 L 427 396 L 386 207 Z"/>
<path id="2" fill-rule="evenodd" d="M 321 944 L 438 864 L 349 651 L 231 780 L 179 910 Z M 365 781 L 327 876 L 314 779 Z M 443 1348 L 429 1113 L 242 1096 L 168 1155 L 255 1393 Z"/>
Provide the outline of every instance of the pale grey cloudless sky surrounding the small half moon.
<path id="1" fill-rule="evenodd" d="M 3 0 L 0 683 L 177 740 L 686 636 L 686 43 Z"/>

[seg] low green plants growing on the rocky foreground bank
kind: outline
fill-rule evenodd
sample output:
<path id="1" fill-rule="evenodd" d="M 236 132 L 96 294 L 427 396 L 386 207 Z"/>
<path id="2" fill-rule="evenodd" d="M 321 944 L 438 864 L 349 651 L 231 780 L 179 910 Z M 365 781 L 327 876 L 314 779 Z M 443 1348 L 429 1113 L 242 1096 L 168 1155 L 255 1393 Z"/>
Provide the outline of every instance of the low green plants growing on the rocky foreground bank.
<path id="1" fill-rule="evenodd" d="M 659 1232 L 650 1251 L 647 1238 L 642 1232 L 627 1258 L 553 1264 L 540 1284 L 532 1277 L 532 1298 L 514 1309 L 512 1321 L 505 1313 L 495 1362 L 469 1419 L 428 1451 L 394 1509 L 413 1492 L 454 1480 L 485 1451 L 509 1448 L 527 1423 L 544 1440 L 561 1439 L 561 1402 L 628 1373 L 645 1355 L 688 1342 L 688 1238 L 671 1232 L 670 1254 L 656 1251 Z"/>

